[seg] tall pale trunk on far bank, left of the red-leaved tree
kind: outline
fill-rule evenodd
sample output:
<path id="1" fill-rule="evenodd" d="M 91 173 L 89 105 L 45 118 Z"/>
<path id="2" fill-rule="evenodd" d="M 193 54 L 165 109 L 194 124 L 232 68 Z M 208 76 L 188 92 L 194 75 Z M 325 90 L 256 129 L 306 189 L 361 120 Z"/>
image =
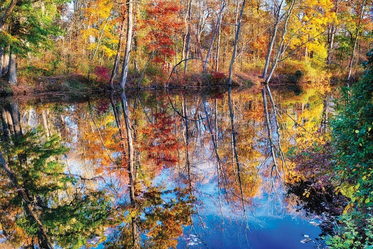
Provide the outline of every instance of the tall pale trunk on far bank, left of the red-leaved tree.
<path id="1" fill-rule="evenodd" d="M 127 0 L 127 39 L 126 39 L 126 50 L 124 52 L 124 59 L 123 59 L 123 67 L 122 67 L 122 74 L 120 76 L 120 87 L 124 91 L 127 82 L 127 74 L 128 74 L 128 66 L 129 66 L 129 58 L 131 52 L 131 43 L 132 43 L 132 28 L 133 28 L 133 19 L 132 19 L 132 8 L 133 8 L 133 1 Z M 128 106 L 127 106 L 128 109 Z M 131 126 L 129 126 L 129 129 Z"/>

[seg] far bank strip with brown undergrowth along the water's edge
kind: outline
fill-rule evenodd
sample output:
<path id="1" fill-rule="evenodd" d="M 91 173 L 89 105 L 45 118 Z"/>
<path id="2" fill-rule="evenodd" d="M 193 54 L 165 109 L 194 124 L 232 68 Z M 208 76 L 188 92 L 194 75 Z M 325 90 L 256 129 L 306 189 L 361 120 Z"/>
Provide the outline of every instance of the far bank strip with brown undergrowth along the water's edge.
<path id="1" fill-rule="evenodd" d="M 326 76 L 322 82 L 328 82 L 328 80 L 329 78 Z M 89 79 L 87 76 L 81 74 L 33 78 L 21 76 L 14 85 L 9 85 L 4 78 L 0 79 L 0 82 L 0 96 L 48 93 L 90 95 L 111 91 L 108 79 L 94 76 Z M 168 74 L 144 75 L 143 77 L 130 75 L 126 88 L 129 91 L 131 89 L 217 88 L 225 87 L 226 82 L 227 76 L 222 72 L 179 74 L 172 75 L 172 77 L 168 77 Z M 302 87 L 314 83 L 320 83 L 320 80 L 310 81 L 299 70 L 294 74 L 275 75 L 273 80 L 270 81 L 270 84 L 273 86 L 285 86 L 296 92 L 300 92 Z M 263 79 L 258 73 L 239 72 L 235 73 L 232 77 L 233 87 L 251 87 L 260 84 L 263 84 Z M 114 91 L 120 91 L 118 81 L 114 82 Z"/>

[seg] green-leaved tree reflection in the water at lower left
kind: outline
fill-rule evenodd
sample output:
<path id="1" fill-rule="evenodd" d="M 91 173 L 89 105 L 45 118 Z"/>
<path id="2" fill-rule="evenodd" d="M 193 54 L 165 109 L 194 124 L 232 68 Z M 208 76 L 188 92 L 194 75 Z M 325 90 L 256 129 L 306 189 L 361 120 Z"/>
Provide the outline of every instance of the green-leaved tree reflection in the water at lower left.
<path id="1" fill-rule="evenodd" d="M 23 238 L 41 248 L 53 248 L 54 242 L 63 247 L 82 245 L 93 228 L 104 226 L 110 200 L 103 192 L 80 191 L 81 179 L 64 172 L 56 157 L 68 149 L 58 135 L 47 136 L 41 128 L 23 134 L 18 105 L 5 108 L 13 131 L 3 123 L 7 142 L 1 145 L 1 177 L 8 182 L 1 185 L 1 207 L 6 212 L 0 217 L 3 234 L 10 241 Z M 10 140 L 9 133 L 14 134 Z"/>

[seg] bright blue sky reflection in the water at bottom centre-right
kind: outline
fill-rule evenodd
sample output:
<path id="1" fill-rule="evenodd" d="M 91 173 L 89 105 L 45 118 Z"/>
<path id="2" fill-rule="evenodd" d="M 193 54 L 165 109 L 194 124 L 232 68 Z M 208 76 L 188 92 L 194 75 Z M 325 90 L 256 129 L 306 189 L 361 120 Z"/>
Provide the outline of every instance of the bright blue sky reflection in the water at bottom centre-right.
<path id="1" fill-rule="evenodd" d="M 193 172 L 208 177 L 207 180 L 194 184 L 193 194 L 198 200 L 200 218 L 196 214 L 192 215 L 193 225 L 184 228 L 184 235 L 179 238 L 178 248 L 302 249 L 315 246 L 313 242 L 302 244 L 300 241 L 305 239 L 304 235 L 315 240 L 321 232 L 320 229 L 312 226 L 308 220 L 287 214 L 283 194 L 268 194 L 262 188 L 263 193 L 252 198 L 253 211 L 246 205 L 248 226 L 245 228 L 243 211 L 232 212 L 223 196 L 223 215 L 220 213 L 216 175 L 213 174 L 216 165 L 213 162 L 206 162 L 195 167 Z M 154 184 L 165 186 L 167 190 L 174 189 L 178 184 L 171 180 L 174 178 L 172 174 L 175 174 L 172 170 L 164 170 L 155 178 Z M 264 180 L 262 187 L 264 184 L 268 184 L 268 181 Z M 283 191 L 278 189 L 278 192 Z M 175 198 L 173 194 L 163 197 Z"/>

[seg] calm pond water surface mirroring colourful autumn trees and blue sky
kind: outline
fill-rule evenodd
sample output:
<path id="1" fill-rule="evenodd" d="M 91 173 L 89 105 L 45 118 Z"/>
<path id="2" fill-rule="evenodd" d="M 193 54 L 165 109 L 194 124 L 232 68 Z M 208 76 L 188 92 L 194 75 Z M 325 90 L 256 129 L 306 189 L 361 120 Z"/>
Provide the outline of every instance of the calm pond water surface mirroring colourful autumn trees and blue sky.
<path id="1" fill-rule="evenodd" d="M 320 231 L 284 197 L 285 155 L 325 129 L 331 95 L 261 90 L 3 100 L 0 243 L 304 247 Z"/>

